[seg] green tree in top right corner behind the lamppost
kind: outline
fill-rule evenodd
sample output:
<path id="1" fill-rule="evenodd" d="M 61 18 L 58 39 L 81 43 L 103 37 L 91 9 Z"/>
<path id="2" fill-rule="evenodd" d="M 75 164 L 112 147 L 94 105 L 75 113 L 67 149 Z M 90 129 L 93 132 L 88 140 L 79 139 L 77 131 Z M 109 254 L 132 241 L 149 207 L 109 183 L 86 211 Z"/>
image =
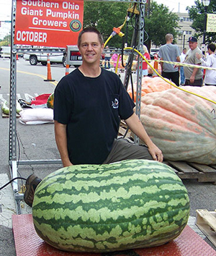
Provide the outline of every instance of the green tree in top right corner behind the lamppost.
<path id="1" fill-rule="evenodd" d="M 204 6 L 202 1 L 195 1 L 195 5 L 192 7 L 186 7 L 186 10 L 189 12 L 189 17 L 192 22 L 192 28 L 196 31 L 195 36 L 198 38 L 202 36 L 204 33 Z M 215 13 L 216 12 L 216 0 L 211 0 L 209 7 L 207 7 L 207 13 Z M 206 42 L 212 43 L 216 40 L 215 33 L 206 33 Z"/>

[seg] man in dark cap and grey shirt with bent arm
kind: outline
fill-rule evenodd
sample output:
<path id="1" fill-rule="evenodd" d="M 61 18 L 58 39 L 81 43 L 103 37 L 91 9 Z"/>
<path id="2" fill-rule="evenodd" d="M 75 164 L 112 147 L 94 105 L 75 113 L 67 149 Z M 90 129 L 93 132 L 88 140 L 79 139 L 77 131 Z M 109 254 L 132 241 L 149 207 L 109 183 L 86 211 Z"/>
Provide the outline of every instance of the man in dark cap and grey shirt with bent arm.
<path id="1" fill-rule="evenodd" d="M 194 36 L 189 37 L 189 51 L 186 54 L 186 58 L 184 60 L 185 64 L 195 64 L 200 65 L 201 61 L 197 59 L 196 54 L 202 54 L 202 51 L 197 46 L 197 38 Z M 202 86 L 202 69 L 197 67 L 186 67 L 184 66 L 184 76 L 185 82 L 184 85 L 192 85 L 192 86 Z"/>

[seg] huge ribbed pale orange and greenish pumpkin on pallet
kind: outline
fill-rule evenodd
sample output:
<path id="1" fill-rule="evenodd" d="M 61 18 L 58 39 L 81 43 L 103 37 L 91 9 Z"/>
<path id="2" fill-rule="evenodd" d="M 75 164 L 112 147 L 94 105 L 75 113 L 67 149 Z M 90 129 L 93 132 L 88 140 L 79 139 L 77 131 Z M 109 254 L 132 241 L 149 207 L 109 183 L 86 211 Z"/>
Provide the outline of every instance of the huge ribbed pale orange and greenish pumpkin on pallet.
<path id="1" fill-rule="evenodd" d="M 216 101 L 216 87 L 185 90 Z M 140 119 L 166 160 L 216 164 L 216 104 L 176 88 L 142 98 Z"/>

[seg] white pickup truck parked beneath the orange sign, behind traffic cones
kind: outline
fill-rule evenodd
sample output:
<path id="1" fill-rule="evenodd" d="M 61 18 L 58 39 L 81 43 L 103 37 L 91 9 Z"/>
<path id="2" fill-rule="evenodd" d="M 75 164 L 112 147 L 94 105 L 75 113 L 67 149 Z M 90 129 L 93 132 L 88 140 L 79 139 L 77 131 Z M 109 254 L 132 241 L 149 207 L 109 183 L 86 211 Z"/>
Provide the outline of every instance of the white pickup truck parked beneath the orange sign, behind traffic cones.
<path id="1" fill-rule="evenodd" d="M 60 63 L 66 67 L 66 49 L 65 48 L 32 48 L 24 53 L 23 59 L 30 61 L 31 65 L 41 63 L 47 65 L 48 54 L 50 56 L 50 64 Z"/>

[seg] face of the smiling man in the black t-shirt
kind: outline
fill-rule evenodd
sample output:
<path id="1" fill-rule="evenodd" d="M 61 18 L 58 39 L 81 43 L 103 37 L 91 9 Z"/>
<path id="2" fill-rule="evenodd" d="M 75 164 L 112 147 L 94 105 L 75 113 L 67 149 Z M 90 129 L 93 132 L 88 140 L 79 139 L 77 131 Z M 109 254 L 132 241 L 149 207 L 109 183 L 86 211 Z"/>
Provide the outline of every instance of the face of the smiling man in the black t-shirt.
<path id="1" fill-rule="evenodd" d="M 88 64 L 99 62 L 103 49 L 104 45 L 101 45 L 96 33 L 86 32 L 81 36 L 79 51 L 84 62 Z"/>

